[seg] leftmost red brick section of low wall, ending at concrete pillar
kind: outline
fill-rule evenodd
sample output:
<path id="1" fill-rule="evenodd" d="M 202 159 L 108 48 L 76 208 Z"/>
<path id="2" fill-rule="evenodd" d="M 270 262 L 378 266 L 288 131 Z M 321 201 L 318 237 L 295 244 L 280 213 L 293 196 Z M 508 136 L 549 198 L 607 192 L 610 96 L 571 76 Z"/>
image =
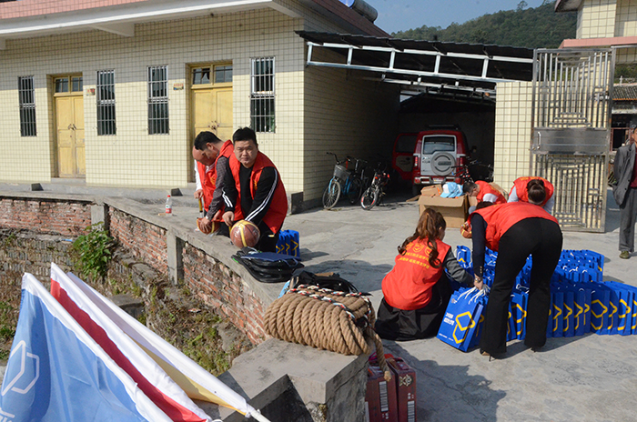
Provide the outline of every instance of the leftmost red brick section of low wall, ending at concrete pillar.
<path id="1" fill-rule="evenodd" d="M 79 236 L 91 224 L 91 203 L 65 199 L 3 197 L 0 227 Z"/>

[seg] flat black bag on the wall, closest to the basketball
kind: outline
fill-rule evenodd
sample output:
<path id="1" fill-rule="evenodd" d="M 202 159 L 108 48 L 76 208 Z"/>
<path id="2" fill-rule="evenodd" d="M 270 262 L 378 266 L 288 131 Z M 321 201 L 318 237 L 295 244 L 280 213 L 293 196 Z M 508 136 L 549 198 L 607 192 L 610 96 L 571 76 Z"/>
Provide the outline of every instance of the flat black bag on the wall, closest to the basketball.
<path id="1" fill-rule="evenodd" d="M 254 247 L 244 247 L 238 250 L 232 259 L 245 266 L 250 275 L 262 283 L 288 281 L 294 271 L 303 267 L 303 264 L 295 256 L 259 252 Z"/>

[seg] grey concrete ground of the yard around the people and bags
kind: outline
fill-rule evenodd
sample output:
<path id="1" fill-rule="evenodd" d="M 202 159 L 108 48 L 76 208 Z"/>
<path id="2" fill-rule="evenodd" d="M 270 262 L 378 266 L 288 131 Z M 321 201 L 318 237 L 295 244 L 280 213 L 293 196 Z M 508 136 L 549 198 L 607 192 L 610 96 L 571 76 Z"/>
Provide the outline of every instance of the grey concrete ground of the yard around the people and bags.
<path id="1" fill-rule="evenodd" d="M 0 192 L 30 186 L 4 185 Z M 81 194 L 85 186 L 64 182 L 46 185 L 47 192 Z M 175 198 L 173 218 L 197 216 L 194 186 Z M 94 189 L 97 195 L 134 197 L 163 212 L 166 191 Z M 298 230 L 301 257 L 311 272 L 335 271 L 359 290 L 382 298 L 380 284 L 392 268 L 396 247 L 410 236 L 418 205 L 408 196 L 389 196 L 385 205 L 365 211 L 341 200 L 333 210 L 312 209 L 288 216 L 284 228 Z M 637 286 L 637 254 L 622 260 L 618 252 L 619 209 L 609 195 L 606 231 L 564 232 L 565 249 L 591 249 L 605 258 L 604 279 Z M 183 224 L 183 221 L 179 221 Z M 193 226 L 194 227 L 194 226 Z M 457 229 L 445 242 L 470 246 Z M 519 341 L 504 358 L 489 361 L 478 350 L 460 352 L 437 338 L 383 342 L 386 353 L 403 357 L 417 374 L 419 421 L 628 421 L 637 420 L 637 336 L 550 338 L 534 353 Z"/>

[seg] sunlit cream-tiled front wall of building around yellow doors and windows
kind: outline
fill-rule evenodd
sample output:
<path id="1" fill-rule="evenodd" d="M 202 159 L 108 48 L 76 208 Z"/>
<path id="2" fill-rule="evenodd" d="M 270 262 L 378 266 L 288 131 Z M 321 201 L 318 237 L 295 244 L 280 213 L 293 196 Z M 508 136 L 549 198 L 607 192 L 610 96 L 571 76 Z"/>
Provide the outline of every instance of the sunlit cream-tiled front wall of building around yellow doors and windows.
<path id="1" fill-rule="evenodd" d="M 337 144 L 349 142 L 352 133 L 359 134 L 357 148 L 362 152 L 368 145 L 364 143 L 386 126 L 370 125 L 372 120 L 378 122 L 376 117 L 356 117 L 369 111 L 371 101 L 385 97 L 373 89 L 374 83 L 347 80 L 345 71 L 338 71 L 342 77 L 332 84 L 324 76 L 333 74 L 324 72 L 329 69 L 306 69 L 307 47 L 294 31 L 344 30 L 294 0 L 278 3 L 302 17 L 266 8 L 136 25 L 133 37 L 90 31 L 7 40 L 6 49 L 0 50 L 0 116 L 5 122 L 0 133 L 5 153 L 0 155 L 0 181 L 49 182 L 56 176 L 53 107 L 47 85 L 51 85 L 49 75 L 72 72 L 84 77 L 86 185 L 186 186 L 192 167 L 188 65 L 232 62 L 233 123 L 237 128 L 250 125 L 250 58 L 274 56 L 276 133 L 258 133 L 259 148 L 278 166 L 288 193 L 305 190 L 306 200 L 319 197 L 327 183 L 324 176 L 333 167 L 330 163 L 323 168 L 322 161 L 317 165 L 313 159 L 318 150 L 324 154 L 325 134 L 329 133 L 329 142 Z M 168 66 L 169 135 L 149 136 L 147 132 L 149 65 Z M 109 69 L 115 69 L 117 134 L 97 136 L 96 95 L 87 91 L 95 87 L 96 71 Z M 36 137 L 20 136 L 16 88 L 17 77 L 22 75 L 35 75 Z M 182 84 L 184 88 L 178 89 Z M 392 88 L 391 92 L 397 91 Z M 353 113 L 350 107 L 355 109 Z M 335 117 L 348 114 L 351 119 L 341 118 L 337 124 Z"/>

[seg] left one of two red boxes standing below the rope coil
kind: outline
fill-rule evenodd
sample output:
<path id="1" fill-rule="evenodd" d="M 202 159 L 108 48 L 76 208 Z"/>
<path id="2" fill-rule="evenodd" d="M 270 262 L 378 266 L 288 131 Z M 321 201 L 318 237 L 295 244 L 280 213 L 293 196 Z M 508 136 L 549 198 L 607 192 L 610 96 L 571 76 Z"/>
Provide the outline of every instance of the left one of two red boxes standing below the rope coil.
<path id="1" fill-rule="evenodd" d="M 393 375 L 392 375 L 393 377 Z M 369 364 L 367 391 L 365 393 L 366 422 L 398 422 L 396 402 L 396 382 L 392 378 L 385 381 L 382 369 Z"/>

